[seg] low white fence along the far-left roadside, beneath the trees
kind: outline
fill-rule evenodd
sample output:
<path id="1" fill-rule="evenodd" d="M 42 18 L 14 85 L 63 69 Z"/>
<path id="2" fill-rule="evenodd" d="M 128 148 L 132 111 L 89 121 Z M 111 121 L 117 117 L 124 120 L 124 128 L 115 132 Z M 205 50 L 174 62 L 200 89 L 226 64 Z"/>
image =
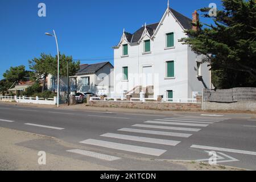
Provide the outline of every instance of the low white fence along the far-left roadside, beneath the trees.
<path id="1" fill-rule="evenodd" d="M 15 101 L 18 103 L 26 103 L 26 104 L 45 104 L 45 105 L 56 105 L 57 98 L 39 98 L 39 97 L 12 97 L 12 96 L 0 96 L 1 101 Z"/>

